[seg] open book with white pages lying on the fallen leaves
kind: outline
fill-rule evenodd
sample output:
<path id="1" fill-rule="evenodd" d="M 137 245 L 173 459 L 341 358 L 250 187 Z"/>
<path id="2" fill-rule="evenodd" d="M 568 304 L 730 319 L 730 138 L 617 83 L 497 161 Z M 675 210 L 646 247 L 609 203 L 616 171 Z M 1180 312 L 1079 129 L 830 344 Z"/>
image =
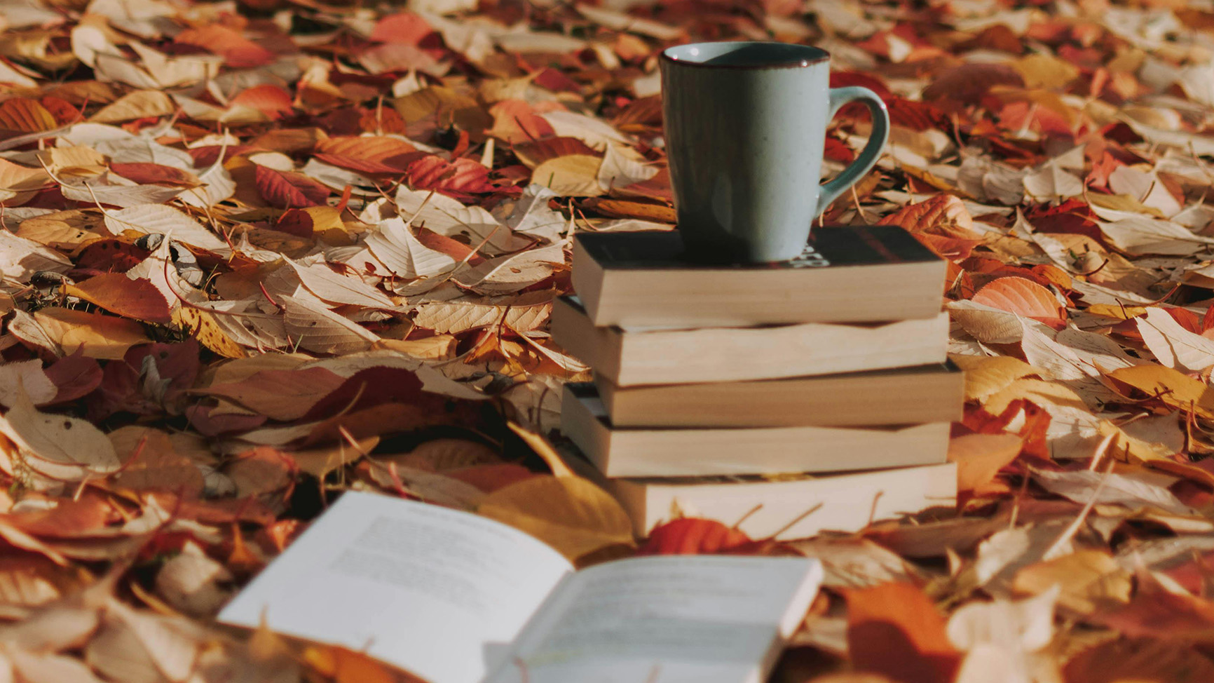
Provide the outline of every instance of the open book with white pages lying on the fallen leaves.
<path id="1" fill-rule="evenodd" d="M 817 560 L 641 557 L 574 571 L 504 524 L 345 493 L 219 620 L 334 643 L 431 683 L 758 683 Z"/>

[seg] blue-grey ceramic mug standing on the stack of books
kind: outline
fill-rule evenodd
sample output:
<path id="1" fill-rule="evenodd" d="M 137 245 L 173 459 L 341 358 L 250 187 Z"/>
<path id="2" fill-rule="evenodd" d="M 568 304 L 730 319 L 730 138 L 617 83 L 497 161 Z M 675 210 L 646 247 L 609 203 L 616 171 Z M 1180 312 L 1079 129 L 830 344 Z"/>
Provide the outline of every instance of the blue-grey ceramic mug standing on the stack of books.
<path id="1" fill-rule="evenodd" d="M 885 103 L 830 88 L 830 55 L 787 43 L 692 43 L 662 52 L 662 112 L 679 231 L 688 255 L 728 263 L 798 256 L 810 227 L 877 163 Z M 847 102 L 873 114 L 868 145 L 818 185 L 827 124 Z"/>

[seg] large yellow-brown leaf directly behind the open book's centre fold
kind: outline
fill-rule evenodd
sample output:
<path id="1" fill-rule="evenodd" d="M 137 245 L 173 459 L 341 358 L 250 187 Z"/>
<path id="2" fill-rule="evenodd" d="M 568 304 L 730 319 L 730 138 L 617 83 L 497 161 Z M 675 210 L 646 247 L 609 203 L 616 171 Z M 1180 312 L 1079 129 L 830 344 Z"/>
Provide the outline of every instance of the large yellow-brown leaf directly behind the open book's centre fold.
<path id="1" fill-rule="evenodd" d="M 489 493 L 477 512 L 544 541 L 571 560 L 632 544 L 632 523 L 606 491 L 578 476 L 533 476 Z"/>

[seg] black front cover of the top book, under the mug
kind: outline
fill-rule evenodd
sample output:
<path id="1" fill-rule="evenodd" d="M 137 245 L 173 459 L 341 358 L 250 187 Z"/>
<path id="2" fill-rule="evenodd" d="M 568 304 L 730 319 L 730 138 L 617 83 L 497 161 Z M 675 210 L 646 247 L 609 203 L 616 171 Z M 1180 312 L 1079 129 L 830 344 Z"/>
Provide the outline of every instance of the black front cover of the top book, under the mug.
<path id="1" fill-rule="evenodd" d="M 582 232 L 575 239 L 608 270 L 785 270 L 940 260 L 909 232 L 891 225 L 815 227 L 800 256 L 771 264 L 704 264 L 688 259 L 677 230 Z"/>

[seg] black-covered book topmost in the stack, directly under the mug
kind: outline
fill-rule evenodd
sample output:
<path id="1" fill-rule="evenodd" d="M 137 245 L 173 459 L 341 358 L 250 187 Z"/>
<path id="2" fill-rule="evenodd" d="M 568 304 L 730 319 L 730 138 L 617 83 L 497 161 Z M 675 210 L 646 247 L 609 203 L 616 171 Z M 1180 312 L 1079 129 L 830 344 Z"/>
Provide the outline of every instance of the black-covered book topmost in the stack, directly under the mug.
<path id="1" fill-rule="evenodd" d="M 815 227 L 775 264 L 685 258 L 677 231 L 582 232 L 573 288 L 596 326 L 728 327 L 940 315 L 943 259 L 897 226 Z"/>

